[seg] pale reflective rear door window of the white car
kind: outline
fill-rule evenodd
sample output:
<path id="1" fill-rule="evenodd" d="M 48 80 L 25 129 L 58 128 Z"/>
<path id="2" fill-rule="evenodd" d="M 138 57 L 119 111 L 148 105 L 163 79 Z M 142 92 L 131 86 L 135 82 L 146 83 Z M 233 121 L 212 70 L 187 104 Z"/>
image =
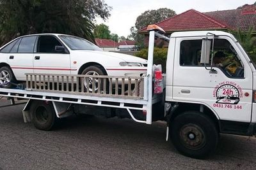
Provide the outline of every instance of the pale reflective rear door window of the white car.
<path id="1" fill-rule="evenodd" d="M 23 37 L 20 41 L 18 53 L 33 53 L 36 36 Z"/>

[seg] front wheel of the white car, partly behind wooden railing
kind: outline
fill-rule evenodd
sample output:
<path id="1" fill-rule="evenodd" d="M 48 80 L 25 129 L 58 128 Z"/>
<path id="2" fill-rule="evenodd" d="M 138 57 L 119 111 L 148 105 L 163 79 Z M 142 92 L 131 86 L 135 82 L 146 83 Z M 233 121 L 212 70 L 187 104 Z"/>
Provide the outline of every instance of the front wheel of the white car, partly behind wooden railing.
<path id="1" fill-rule="evenodd" d="M 102 69 L 99 66 L 86 67 L 86 69 L 84 69 L 81 74 L 89 75 L 89 76 L 106 75 L 106 74 L 104 74 L 104 71 L 102 71 Z M 85 89 L 89 90 L 89 92 L 92 92 L 93 91 L 93 78 L 91 78 L 91 77 L 84 78 L 83 82 L 84 82 Z M 99 88 L 100 88 L 100 90 L 103 89 L 103 82 L 100 84 L 100 87 L 99 87 L 99 79 L 95 78 L 94 79 L 94 92 L 98 92 Z"/>

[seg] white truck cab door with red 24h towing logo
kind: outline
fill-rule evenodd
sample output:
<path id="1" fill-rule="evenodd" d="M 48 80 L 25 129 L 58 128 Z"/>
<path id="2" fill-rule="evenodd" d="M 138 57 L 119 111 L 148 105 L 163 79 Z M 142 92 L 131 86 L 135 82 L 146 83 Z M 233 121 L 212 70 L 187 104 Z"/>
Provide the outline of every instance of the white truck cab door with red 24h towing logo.
<path id="1" fill-rule="evenodd" d="M 221 120 L 251 122 L 252 71 L 236 43 L 227 36 L 214 40 L 214 55 L 224 54 L 215 71 L 200 64 L 202 38 L 177 38 L 176 45 L 173 99 L 202 103 Z"/>

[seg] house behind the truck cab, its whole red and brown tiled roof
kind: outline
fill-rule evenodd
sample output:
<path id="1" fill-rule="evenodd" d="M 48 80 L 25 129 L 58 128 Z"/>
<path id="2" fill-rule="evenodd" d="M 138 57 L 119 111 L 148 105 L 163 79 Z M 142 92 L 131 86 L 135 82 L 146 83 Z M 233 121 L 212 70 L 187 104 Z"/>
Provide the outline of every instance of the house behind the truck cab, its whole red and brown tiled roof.
<path id="1" fill-rule="evenodd" d="M 253 33 L 256 34 L 256 4 L 245 4 L 236 10 L 211 11 L 205 13 L 191 9 L 158 22 L 156 25 L 162 27 L 164 31 L 166 31 L 166 34 L 171 34 L 176 31 L 201 30 L 228 31 L 230 29 L 241 29 L 241 31 L 248 31 L 251 26 L 254 27 Z M 141 29 L 139 33 L 145 34 L 145 44 L 147 44 L 147 27 Z"/>

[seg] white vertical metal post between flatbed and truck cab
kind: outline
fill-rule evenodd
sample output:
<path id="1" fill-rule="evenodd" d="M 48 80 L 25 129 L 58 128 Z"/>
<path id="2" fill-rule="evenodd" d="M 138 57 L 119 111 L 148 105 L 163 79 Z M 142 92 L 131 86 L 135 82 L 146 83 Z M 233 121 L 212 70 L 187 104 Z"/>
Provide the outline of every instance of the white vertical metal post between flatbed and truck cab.
<path id="1" fill-rule="evenodd" d="M 154 57 L 154 42 L 155 42 L 155 31 L 149 32 L 149 41 L 148 41 L 148 66 L 147 66 L 147 79 L 145 84 L 148 86 L 148 103 L 147 103 L 147 124 L 152 124 L 152 68 L 153 68 L 153 57 Z"/>

